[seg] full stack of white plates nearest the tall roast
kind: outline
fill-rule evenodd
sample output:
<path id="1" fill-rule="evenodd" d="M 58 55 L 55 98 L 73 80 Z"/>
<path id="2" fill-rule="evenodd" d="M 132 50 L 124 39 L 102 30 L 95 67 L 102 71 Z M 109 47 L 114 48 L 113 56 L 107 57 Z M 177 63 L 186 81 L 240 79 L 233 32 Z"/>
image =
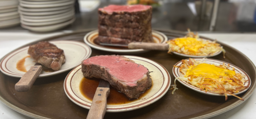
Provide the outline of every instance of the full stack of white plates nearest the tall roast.
<path id="1" fill-rule="evenodd" d="M 61 29 L 75 21 L 75 0 L 20 0 L 22 27 L 35 32 Z"/>

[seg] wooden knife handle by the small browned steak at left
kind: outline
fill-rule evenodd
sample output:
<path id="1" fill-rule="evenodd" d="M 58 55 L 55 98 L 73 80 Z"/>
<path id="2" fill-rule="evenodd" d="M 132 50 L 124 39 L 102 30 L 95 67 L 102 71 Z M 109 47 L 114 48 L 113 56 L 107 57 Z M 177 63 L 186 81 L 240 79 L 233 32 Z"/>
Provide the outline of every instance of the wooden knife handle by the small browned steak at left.
<path id="1" fill-rule="evenodd" d="M 36 78 L 41 73 L 42 66 L 31 66 L 28 72 L 26 72 L 19 82 L 15 84 L 15 90 L 19 92 L 28 91 L 33 85 Z"/>

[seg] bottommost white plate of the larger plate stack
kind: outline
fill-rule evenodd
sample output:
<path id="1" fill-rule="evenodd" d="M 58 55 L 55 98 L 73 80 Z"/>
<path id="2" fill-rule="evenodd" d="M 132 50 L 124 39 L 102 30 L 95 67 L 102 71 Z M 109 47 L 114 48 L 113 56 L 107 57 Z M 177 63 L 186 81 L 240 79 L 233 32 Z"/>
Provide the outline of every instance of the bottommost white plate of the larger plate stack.
<path id="1" fill-rule="evenodd" d="M 69 21 L 59 23 L 57 25 L 44 26 L 44 27 L 30 27 L 30 26 L 26 26 L 26 25 L 23 25 L 23 24 L 21 26 L 24 29 L 28 29 L 28 30 L 35 31 L 35 32 L 50 32 L 50 31 L 55 31 L 55 30 L 61 29 L 63 27 L 66 27 L 67 25 L 71 24 L 75 20 L 76 20 L 76 18 L 73 18 Z"/>

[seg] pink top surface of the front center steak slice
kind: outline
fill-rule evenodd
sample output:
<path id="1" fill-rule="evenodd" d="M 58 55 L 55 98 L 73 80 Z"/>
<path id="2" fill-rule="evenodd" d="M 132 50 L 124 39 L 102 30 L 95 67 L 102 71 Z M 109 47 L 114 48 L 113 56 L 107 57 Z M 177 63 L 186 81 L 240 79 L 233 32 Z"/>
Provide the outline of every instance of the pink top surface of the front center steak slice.
<path id="1" fill-rule="evenodd" d="M 83 64 L 104 66 L 109 69 L 109 74 L 127 83 L 139 80 L 143 75 L 148 73 L 148 69 L 146 67 L 130 61 L 125 61 L 118 56 L 91 57 L 84 60 Z"/>

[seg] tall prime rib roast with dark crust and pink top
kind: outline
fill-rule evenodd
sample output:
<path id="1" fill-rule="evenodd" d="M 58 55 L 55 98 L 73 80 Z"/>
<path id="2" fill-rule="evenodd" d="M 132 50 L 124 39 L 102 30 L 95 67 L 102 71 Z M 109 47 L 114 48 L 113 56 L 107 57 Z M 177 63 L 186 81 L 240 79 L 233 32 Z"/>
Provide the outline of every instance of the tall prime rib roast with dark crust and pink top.
<path id="1" fill-rule="evenodd" d="M 99 36 L 96 42 L 128 44 L 154 42 L 151 31 L 152 7 L 109 5 L 99 8 Z"/>

